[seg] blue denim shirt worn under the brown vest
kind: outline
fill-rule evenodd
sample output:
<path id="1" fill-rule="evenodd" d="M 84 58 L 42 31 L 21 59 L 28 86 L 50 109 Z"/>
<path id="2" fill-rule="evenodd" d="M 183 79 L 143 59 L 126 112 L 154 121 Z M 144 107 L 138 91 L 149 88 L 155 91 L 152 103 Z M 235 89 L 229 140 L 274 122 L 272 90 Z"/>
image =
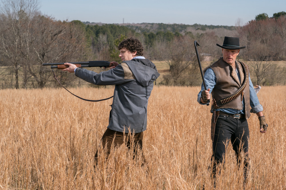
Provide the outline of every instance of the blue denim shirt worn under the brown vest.
<path id="1" fill-rule="evenodd" d="M 238 78 L 240 80 L 240 75 L 239 72 L 236 69 L 236 73 L 238 75 Z M 215 76 L 215 72 L 212 70 L 212 68 L 208 68 L 206 70 L 206 72 L 204 73 L 204 81 L 206 84 L 206 89 L 210 89 L 210 93 L 212 92 L 212 89 L 215 87 L 215 85 L 217 84 L 217 77 Z M 198 93 L 198 103 L 202 104 L 202 105 L 206 105 L 200 102 L 200 98 L 201 98 L 201 93 L 204 90 L 204 85 L 202 83 L 202 87 L 200 92 Z M 256 92 L 253 88 L 253 84 L 251 82 L 251 79 L 249 77 L 249 96 L 250 96 L 250 107 L 251 113 L 258 113 L 260 111 L 263 111 L 263 107 L 262 105 L 259 103 L 258 97 L 256 95 Z M 242 101 L 242 106 L 243 109 L 242 110 L 236 110 L 236 109 L 231 109 L 231 108 L 221 108 L 221 109 L 215 109 L 215 111 L 223 111 L 225 113 L 230 113 L 230 114 L 245 114 L 245 105 L 244 105 L 244 98 Z M 211 111 L 212 112 L 212 111 Z"/>

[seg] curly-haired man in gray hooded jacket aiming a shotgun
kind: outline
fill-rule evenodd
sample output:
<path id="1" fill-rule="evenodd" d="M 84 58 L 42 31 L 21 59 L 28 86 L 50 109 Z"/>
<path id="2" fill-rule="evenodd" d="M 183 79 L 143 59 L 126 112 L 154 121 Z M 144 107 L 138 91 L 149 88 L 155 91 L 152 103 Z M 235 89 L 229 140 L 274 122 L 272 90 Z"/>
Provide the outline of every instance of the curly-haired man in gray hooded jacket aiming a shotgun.
<path id="1" fill-rule="evenodd" d="M 120 50 L 119 57 L 122 63 L 111 62 L 108 71 L 96 73 L 71 63 L 65 63 L 69 67 L 63 71 L 75 72 L 77 77 L 95 85 L 115 85 L 109 123 L 102 136 L 102 146 L 106 150 L 107 157 L 110 154 L 112 143 L 114 146 L 126 144 L 130 149 L 130 142 L 133 142 L 128 135 L 130 130 L 134 135 L 133 151 L 136 156 L 138 152 L 142 153 L 142 165 L 145 165 L 142 144 L 143 133 L 147 127 L 147 105 L 153 82 L 160 74 L 156 66 L 142 56 L 143 46 L 138 39 L 123 40 L 118 50 Z M 100 154 L 99 150 L 95 154 L 96 164 L 98 154 Z"/>

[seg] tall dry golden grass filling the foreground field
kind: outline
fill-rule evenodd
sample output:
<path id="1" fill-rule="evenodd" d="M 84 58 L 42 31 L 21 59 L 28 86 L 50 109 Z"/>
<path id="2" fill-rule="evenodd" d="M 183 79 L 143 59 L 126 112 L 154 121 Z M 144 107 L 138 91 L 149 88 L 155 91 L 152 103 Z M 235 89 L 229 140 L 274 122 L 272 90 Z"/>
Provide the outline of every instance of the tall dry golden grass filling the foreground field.
<path id="1" fill-rule="evenodd" d="M 79 88 L 89 99 L 113 94 L 112 88 Z M 63 89 L 1 90 L 0 189 L 212 189 L 210 107 L 199 105 L 199 87 L 155 86 L 144 133 L 146 167 L 121 146 L 108 162 L 94 154 L 108 124 L 112 99 L 91 103 Z M 258 93 L 269 129 L 250 126 L 251 178 L 246 189 L 285 189 L 286 87 Z M 228 147 L 218 189 L 243 189 L 242 171 Z"/>

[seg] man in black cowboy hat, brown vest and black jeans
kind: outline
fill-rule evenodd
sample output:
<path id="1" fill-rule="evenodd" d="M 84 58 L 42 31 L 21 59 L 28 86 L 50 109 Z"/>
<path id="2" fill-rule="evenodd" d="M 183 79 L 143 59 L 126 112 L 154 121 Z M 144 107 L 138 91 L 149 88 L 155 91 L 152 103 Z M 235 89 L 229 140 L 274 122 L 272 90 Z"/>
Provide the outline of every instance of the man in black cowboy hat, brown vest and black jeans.
<path id="1" fill-rule="evenodd" d="M 259 103 L 253 84 L 249 77 L 249 66 L 236 61 L 240 49 L 239 38 L 227 37 L 222 48 L 223 57 L 204 69 L 206 89 L 202 85 L 198 93 L 198 103 L 206 105 L 212 94 L 211 138 L 212 138 L 212 177 L 216 179 L 217 165 L 224 162 L 226 145 L 229 140 L 235 151 L 237 164 L 243 164 L 244 182 L 248 171 L 248 139 L 247 119 L 250 113 L 258 116 L 261 133 L 267 130 L 263 107 Z M 251 109 L 250 109 L 251 108 Z M 219 172 L 218 172 L 219 173 Z"/>

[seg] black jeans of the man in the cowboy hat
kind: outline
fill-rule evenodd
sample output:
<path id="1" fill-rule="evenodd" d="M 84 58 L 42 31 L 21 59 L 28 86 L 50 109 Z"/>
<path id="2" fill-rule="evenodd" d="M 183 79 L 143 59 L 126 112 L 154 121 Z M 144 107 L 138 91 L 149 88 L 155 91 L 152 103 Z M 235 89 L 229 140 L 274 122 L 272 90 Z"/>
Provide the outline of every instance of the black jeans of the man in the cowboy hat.
<path id="1" fill-rule="evenodd" d="M 215 127 L 215 138 L 212 143 L 212 176 L 216 178 L 217 164 L 225 162 L 226 147 L 231 142 L 237 158 L 237 164 L 243 163 L 245 180 L 248 168 L 248 139 L 249 128 L 246 118 L 235 119 L 230 116 L 219 115 Z M 241 153 L 244 153 L 243 156 Z"/>

